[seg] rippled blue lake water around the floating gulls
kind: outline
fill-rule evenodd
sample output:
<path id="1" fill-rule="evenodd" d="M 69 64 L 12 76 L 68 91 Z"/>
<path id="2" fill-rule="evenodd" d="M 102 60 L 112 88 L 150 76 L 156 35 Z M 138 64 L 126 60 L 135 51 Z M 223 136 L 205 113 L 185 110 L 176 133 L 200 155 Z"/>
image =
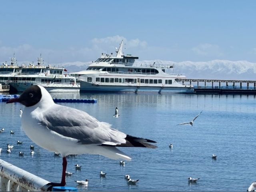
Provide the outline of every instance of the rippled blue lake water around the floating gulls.
<path id="1" fill-rule="evenodd" d="M 100 121 L 112 124 L 126 134 L 157 141 L 158 148 L 120 148 L 132 157 L 120 166 L 119 161 L 103 156 L 83 154 L 68 157 L 66 186 L 78 190 L 108 191 L 246 191 L 256 180 L 254 166 L 255 96 L 196 94 L 52 94 L 57 98 L 96 98 L 96 104 L 61 103 L 88 112 Z M 118 107 L 120 117 L 113 118 Z M 21 104 L 0 102 L 0 158 L 50 182 L 60 182 L 62 158 L 35 145 L 24 134 L 19 117 Z M 200 111 L 194 125 L 176 124 L 190 121 Z M 10 134 L 10 130 L 15 134 Z M 23 144 L 16 144 L 17 140 Z M 7 144 L 14 145 L 11 154 Z M 173 148 L 168 145 L 172 143 Z M 18 155 L 19 151 L 24 156 Z M 217 159 L 211 158 L 212 154 Z M 82 165 L 75 170 L 75 164 Z M 100 171 L 106 172 L 100 178 Z M 139 179 L 128 185 L 130 174 Z M 198 178 L 189 184 L 188 177 Z M 87 187 L 74 180 L 88 179 Z"/>

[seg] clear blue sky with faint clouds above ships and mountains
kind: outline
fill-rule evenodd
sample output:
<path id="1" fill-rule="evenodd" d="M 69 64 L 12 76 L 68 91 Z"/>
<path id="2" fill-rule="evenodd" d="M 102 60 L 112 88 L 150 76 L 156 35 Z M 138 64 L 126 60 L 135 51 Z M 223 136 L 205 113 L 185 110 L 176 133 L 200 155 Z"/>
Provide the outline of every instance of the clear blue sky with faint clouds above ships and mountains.
<path id="1" fill-rule="evenodd" d="M 255 0 L 0 0 L 0 61 L 87 62 L 114 52 L 140 60 L 256 62 Z"/>

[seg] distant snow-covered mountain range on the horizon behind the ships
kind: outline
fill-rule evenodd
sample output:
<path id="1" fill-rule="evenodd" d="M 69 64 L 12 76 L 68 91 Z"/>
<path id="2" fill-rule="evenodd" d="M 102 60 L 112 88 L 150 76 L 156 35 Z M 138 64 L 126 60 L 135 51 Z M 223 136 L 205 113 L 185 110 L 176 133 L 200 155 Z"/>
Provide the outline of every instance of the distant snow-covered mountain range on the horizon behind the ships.
<path id="1" fill-rule="evenodd" d="M 138 63 L 157 65 L 173 65 L 174 68 L 166 70 L 168 73 L 182 73 L 187 78 L 200 79 L 229 79 L 229 80 L 256 80 L 256 63 L 248 61 L 212 60 L 207 62 L 173 62 L 163 60 L 144 60 Z M 68 72 L 86 70 L 92 62 L 62 63 Z M 57 66 L 58 64 L 52 64 Z"/>

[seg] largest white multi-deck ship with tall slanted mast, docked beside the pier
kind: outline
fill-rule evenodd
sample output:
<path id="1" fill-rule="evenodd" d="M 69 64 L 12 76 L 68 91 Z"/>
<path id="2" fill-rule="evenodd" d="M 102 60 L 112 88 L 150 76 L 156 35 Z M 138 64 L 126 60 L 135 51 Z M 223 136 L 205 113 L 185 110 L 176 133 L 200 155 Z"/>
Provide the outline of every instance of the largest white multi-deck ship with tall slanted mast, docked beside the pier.
<path id="1" fill-rule="evenodd" d="M 186 78 L 184 74 L 165 72 L 166 68 L 173 66 L 135 63 L 138 57 L 122 55 L 122 46 L 123 41 L 116 51 L 116 56 L 113 56 L 113 53 L 102 53 L 86 70 L 73 73 L 80 80 L 81 92 L 194 92 L 192 85 L 180 84 L 177 81 L 177 78 Z"/>

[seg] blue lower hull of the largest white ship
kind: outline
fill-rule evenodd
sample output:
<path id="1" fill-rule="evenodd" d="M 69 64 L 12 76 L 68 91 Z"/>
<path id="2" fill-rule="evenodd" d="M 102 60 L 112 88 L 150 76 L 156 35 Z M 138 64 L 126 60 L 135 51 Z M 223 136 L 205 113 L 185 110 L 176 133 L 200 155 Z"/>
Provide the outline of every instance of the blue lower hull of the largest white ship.
<path id="1" fill-rule="evenodd" d="M 96 85 L 89 82 L 80 81 L 80 92 L 170 92 L 170 93 L 193 93 L 194 88 L 190 86 L 139 86 L 139 85 Z"/>

